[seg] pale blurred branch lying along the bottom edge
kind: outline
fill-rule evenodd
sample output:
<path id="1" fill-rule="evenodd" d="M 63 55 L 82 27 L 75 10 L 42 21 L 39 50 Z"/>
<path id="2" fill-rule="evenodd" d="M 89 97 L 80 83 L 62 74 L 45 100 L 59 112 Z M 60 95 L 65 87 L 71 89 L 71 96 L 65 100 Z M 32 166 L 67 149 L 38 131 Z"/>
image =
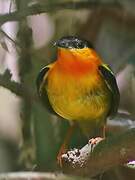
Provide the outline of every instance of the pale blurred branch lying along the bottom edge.
<path id="1" fill-rule="evenodd" d="M 40 173 L 40 172 L 14 172 L 14 173 L 1 173 L 0 179 L 17 180 L 17 179 L 30 179 L 30 180 L 88 180 L 81 177 L 64 175 L 61 173 Z M 92 179 L 89 179 L 92 180 Z"/>

